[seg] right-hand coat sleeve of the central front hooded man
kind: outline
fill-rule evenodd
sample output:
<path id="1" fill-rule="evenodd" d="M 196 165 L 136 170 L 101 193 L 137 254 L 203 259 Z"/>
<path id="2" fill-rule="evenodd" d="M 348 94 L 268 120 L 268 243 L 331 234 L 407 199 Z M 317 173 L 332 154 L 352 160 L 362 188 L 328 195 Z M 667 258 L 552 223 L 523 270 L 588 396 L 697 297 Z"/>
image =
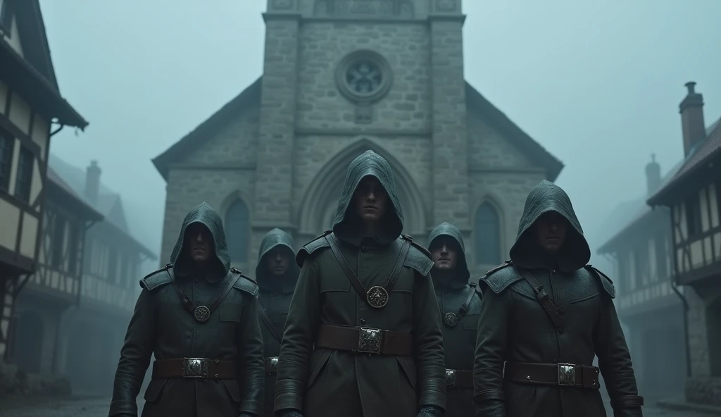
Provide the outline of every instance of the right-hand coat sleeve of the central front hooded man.
<path id="1" fill-rule="evenodd" d="M 417 271 L 416 274 L 420 275 Z M 418 371 L 418 405 L 446 409 L 446 365 L 438 301 L 430 273 L 419 276 L 413 288 L 413 348 Z"/>

